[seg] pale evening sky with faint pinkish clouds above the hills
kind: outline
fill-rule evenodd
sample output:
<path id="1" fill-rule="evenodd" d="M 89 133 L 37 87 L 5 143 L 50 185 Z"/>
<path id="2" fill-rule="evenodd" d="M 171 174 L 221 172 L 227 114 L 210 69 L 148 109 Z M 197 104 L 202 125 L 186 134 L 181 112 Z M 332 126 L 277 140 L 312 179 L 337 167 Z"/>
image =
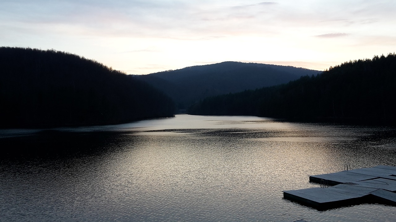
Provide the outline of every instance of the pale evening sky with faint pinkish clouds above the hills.
<path id="1" fill-rule="evenodd" d="M 0 46 L 127 74 L 224 61 L 326 70 L 396 52 L 394 0 L 1 0 Z"/>

